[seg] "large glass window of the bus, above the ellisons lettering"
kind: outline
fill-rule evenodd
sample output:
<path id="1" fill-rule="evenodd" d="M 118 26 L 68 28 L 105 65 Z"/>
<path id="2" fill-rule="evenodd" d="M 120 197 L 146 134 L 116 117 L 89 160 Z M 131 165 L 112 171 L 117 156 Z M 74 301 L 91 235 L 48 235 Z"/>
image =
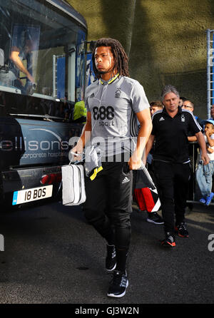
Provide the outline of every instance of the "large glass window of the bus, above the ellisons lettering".
<path id="1" fill-rule="evenodd" d="M 49 1 L 0 0 L 0 11 L 6 113 L 72 118 L 74 103 L 83 100 L 86 30 Z"/>

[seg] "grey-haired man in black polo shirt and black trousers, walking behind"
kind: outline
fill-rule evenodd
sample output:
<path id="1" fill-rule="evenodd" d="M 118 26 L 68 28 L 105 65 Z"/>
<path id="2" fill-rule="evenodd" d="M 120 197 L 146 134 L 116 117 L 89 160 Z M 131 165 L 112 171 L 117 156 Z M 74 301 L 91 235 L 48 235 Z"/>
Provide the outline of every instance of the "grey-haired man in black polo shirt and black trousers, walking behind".
<path id="1" fill-rule="evenodd" d="M 174 86 L 163 88 L 161 100 L 163 110 L 153 115 L 153 130 L 146 145 L 146 156 L 154 141 L 153 167 L 161 196 L 165 239 L 161 244 L 175 247 L 175 232 L 180 237 L 188 237 L 185 224 L 185 206 L 190 178 L 190 158 L 188 153 L 188 131 L 196 135 L 202 150 L 202 160 L 209 162 L 201 127 L 193 113 L 178 106 L 179 93 Z M 175 222 L 174 222 L 175 217 Z"/>

